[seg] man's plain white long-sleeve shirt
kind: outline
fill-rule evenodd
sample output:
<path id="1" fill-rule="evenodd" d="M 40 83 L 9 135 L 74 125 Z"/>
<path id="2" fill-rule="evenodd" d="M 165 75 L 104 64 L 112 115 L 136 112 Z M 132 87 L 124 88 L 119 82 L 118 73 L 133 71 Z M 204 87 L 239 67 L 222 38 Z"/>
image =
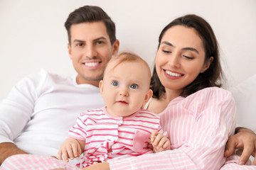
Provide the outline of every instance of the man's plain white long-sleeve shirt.
<path id="1" fill-rule="evenodd" d="M 22 79 L 0 103 L 0 142 L 57 157 L 78 114 L 104 105 L 96 86 L 42 69 Z"/>

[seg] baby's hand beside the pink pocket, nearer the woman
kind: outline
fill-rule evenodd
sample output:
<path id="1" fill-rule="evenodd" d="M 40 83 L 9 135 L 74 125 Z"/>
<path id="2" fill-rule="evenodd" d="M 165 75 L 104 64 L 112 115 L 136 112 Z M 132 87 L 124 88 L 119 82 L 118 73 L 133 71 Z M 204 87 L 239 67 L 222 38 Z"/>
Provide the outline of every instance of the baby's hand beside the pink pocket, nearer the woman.
<path id="1" fill-rule="evenodd" d="M 154 130 L 151 133 L 150 140 L 151 140 L 151 145 L 153 147 L 154 153 L 171 149 L 170 140 L 163 134 L 157 132 L 156 130 Z"/>

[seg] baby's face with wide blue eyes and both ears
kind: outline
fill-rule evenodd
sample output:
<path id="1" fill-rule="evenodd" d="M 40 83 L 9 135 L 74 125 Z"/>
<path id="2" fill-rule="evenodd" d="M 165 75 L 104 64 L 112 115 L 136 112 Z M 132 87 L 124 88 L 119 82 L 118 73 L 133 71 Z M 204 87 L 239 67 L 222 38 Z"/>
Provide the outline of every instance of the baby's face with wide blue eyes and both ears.
<path id="1" fill-rule="evenodd" d="M 151 97 L 149 73 L 141 62 L 123 62 L 116 67 L 115 62 L 105 70 L 100 82 L 102 98 L 107 113 L 113 116 L 132 115 Z"/>

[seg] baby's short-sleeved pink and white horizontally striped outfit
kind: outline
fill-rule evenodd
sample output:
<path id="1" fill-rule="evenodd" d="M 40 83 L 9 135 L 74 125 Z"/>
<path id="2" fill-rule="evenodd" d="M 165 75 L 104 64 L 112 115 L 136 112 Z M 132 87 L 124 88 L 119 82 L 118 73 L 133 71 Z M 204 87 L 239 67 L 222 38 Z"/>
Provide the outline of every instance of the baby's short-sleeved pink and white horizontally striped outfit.
<path id="1" fill-rule="evenodd" d="M 162 132 L 159 116 L 139 110 L 127 118 L 113 117 L 105 107 L 80 113 L 69 136 L 85 140 L 80 167 L 112 159 L 152 153 L 148 148 L 153 130 Z"/>

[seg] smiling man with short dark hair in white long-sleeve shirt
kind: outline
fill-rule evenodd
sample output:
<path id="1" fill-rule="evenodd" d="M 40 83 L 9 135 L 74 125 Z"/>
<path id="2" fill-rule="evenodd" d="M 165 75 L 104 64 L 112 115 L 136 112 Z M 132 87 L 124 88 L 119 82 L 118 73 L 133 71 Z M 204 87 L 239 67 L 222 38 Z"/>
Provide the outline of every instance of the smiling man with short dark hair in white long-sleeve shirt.
<path id="1" fill-rule="evenodd" d="M 114 23 L 101 8 L 83 6 L 70 13 L 65 28 L 78 75 L 61 77 L 42 70 L 11 90 L 0 104 L 0 164 L 14 154 L 57 157 L 78 113 L 104 106 L 98 84 L 107 62 L 119 49 Z M 252 137 L 254 133 L 238 132 L 228 142 L 228 154 L 245 145 L 242 162 L 246 162 L 256 148 Z"/>

